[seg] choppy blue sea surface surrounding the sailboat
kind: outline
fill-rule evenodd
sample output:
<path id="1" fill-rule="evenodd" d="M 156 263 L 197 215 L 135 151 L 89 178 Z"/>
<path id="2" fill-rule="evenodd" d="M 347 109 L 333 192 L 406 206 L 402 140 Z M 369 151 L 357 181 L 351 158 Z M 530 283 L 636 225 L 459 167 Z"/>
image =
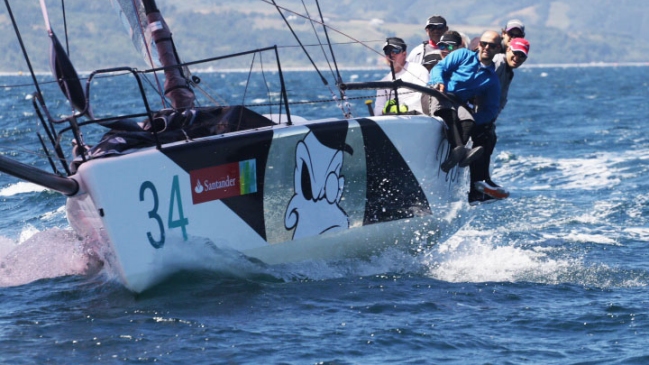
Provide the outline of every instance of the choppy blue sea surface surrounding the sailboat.
<path id="1" fill-rule="evenodd" d="M 286 73 L 293 102 L 331 98 L 310 75 Z M 247 74 L 201 77 L 233 95 Z M 47 169 L 30 83 L 0 77 L 0 151 Z M 108 97 L 93 105 L 128 110 L 126 85 L 98 86 Z M 350 95 L 366 116 L 372 94 Z M 342 116 L 332 103 L 291 111 Z M 0 174 L 0 363 L 647 364 L 648 115 L 646 66 L 522 68 L 493 159 L 511 197 L 467 208 L 447 241 L 417 256 L 185 272 L 138 295 L 71 231 L 64 196 Z"/>

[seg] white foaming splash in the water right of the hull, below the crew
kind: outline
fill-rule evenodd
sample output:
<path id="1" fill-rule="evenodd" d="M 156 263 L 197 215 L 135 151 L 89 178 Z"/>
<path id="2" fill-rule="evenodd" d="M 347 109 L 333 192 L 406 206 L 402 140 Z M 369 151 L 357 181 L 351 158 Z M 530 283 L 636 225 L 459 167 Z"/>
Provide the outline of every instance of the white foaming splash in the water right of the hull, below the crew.
<path id="1" fill-rule="evenodd" d="M 463 230 L 424 256 L 426 275 L 446 282 L 575 284 L 602 289 L 649 285 L 649 273 L 589 263 L 585 249 L 575 250 L 560 241 L 507 242 L 497 232 Z"/>

